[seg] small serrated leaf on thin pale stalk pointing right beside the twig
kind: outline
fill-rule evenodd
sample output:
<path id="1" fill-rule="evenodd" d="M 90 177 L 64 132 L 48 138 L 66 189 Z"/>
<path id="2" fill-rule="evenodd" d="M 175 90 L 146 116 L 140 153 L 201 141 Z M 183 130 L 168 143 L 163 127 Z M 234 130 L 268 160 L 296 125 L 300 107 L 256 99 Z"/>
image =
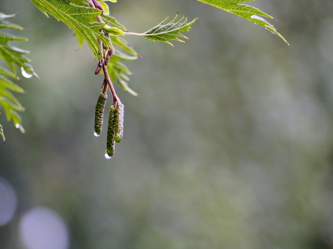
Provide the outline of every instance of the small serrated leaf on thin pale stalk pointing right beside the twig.
<path id="1" fill-rule="evenodd" d="M 172 20 L 172 22 L 163 25 L 163 23 L 168 19 L 168 17 L 159 25 L 154 27 L 153 29 L 143 33 L 143 34 L 137 34 L 137 33 L 130 33 L 130 32 L 124 32 L 124 34 L 128 35 L 137 35 L 137 36 L 143 36 L 148 39 L 151 39 L 153 41 L 164 41 L 166 43 L 169 43 L 171 46 L 173 46 L 169 41 L 181 41 L 178 37 L 182 37 L 185 39 L 188 39 L 183 34 L 180 34 L 181 31 L 188 31 L 190 29 L 190 26 L 195 22 L 197 18 L 195 18 L 192 22 L 187 23 L 187 18 L 184 18 L 184 16 L 176 22 L 178 13 L 176 17 Z"/>

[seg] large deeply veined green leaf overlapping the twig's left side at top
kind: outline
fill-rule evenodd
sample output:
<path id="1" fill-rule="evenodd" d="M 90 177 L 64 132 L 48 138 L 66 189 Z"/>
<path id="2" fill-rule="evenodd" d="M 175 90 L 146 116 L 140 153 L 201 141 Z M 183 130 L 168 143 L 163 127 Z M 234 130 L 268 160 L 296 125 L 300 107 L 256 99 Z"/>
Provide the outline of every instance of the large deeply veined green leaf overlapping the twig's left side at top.
<path id="1" fill-rule="evenodd" d="M 62 21 L 71 29 L 80 33 L 88 42 L 96 56 L 101 58 L 97 38 L 106 46 L 111 46 L 108 38 L 99 32 L 105 23 L 91 23 L 90 21 L 102 14 L 102 11 L 95 8 L 75 6 L 72 0 L 31 0 L 46 16 L 47 13 Z M 75 4 L 78 2 L 76 1 Z"/>

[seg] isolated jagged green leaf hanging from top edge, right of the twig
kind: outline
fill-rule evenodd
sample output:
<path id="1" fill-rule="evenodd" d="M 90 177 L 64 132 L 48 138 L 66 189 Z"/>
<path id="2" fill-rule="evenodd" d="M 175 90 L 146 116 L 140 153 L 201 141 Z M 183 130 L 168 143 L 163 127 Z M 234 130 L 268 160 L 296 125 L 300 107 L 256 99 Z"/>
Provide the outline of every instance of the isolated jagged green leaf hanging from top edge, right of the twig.
<path id="1" fill-rule="evenodd" d="M 246 20 L 249 20 L 257 25 L 260 25 L 260 26 L 264 27 L 265 29 L 271 31 L 273 34 L 280 37 L 283 41 L 285 41 L 289 45 L 288 41 L 286 41 L 286 39 L 284 39 L 284 37 L 281 36 L 281 34 L 276 31 L 276 29 L 274 28 L 274 26 L 272 24 L 267 22 L 262 17 L 259 17 L 258 15 L 268 17 L 271 19 L 274 19 L 273 17 L 258 10 L 257 8 L 251 7 L 246 4 L 241 4 L 243 2 L 249 2 L 249 1 L 255 1 L 255 0 L 197 0 L 197 1 L 215 6 L 219 9 L 233 13 L 233 14 L 240 16 L 242 18 L 245 18 Z"/>

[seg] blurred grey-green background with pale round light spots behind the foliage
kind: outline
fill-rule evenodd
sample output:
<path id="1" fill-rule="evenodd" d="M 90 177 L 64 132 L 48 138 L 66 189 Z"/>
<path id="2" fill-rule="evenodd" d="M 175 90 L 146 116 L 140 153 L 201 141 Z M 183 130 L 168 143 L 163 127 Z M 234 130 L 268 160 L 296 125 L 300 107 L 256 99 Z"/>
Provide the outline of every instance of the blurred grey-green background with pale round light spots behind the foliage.
<path id="1" fill-rule="evenodd" d="M 1 0 L 41 81 L 15 95 L 25 135 L 0 116 L 0 248 L 333 248 L 333 1 L 249 4 L 290 47 L 195 0 L 109 2 L 132 32 L 199 19 L 174 47 L 126 37 L 140 96 L 116 86 L 125 133 L 107 160 L 88 45 L 30 1 Z"/>

